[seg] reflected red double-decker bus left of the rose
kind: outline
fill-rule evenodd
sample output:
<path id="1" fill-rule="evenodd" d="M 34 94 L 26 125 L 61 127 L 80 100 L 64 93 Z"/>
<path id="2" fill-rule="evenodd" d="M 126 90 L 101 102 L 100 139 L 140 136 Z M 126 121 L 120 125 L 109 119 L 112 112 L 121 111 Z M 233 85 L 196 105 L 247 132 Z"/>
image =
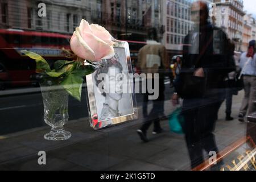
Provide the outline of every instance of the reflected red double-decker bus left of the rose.
<path id="1" fill-rule="evenodd" d="M 22 30 L 0 30 L 0 63 L 9 75 L 10 86 L 30 85 L 36 64 L 20 51 L 26 49 L 43 56 L 49 63 L 64 59 L 62 48 L 70 49 L 70 35 Z"/>

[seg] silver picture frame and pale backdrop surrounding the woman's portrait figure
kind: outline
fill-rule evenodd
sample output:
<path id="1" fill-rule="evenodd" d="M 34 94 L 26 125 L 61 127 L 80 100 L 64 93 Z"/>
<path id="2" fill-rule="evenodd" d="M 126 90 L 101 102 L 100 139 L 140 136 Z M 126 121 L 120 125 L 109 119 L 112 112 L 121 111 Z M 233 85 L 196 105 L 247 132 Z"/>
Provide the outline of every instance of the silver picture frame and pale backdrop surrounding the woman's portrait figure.
<path id="1" fill-rule="evenodd" d="M 129 92 L 122 94 L 122 99 L 119 101 L 119 106 L 126 107 L 121 111 L 117 117 L 113 118 L 101 118 L 101 107 L 102 102 L 104 103 L 104 98 L 100 96 L 101 94 L 97 90 L 96 86 L 96 72 L 86 76 L 86 87 L 87 87 L 87 98 L 88 98 L 88 109 L 89 109 L 89 121 L 90 126 L 94 130 L 105 129 L 106 127 L 111 127 L 115 125 L 120 125 L 125 122 L 131 122 L 138 119 L 138 108 L 137 101 L 134 92 L 134 81 L 133 81 L 133 67 L 131 64 L 129 43 L 118 41 L 113 39 L 115 55 L 119 55 L 118 62 L 122 64 L 122 69 L 124 75 L 127 76 L 127 85 Z M 103 60 L 108 61 L 108 60 Z M 101 64 L 101 63 L 99 63 Z M 104 104 L 103 104 L 104 105 Z M 102 109 L 103 110 L 103 109 Z"/>

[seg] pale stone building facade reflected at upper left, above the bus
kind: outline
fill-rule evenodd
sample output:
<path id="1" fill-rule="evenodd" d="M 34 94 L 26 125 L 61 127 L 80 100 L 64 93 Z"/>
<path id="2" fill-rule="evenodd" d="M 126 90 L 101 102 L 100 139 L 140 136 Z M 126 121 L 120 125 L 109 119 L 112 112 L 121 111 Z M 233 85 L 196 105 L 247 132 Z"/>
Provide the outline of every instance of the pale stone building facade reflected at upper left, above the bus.
<path id="1" fill-rule="evenodd" d="M 39 3 L 46 4 L 46 16 L 40 17 Z M 82 1 L 1 1 L 1 14 L 6 14 L 8 22 L 1 20 L 1 28 L 49 31 L 72 34 L 81 18 L 90 18 L 89 2 Z M 5 9 L 5 11 L 3 11 Z M 89 19 L 90 20 L 90 19 Z"/>

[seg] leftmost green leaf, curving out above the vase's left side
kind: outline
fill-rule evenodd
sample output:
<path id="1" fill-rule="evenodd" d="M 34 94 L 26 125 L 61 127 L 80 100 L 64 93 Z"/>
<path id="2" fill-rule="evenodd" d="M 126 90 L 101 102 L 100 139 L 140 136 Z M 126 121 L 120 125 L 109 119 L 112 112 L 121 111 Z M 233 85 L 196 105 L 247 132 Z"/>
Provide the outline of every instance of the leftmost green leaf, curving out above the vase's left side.
<path id="1" fill-rule="evenodd" d="M 36 61 L 36 72 L 41 73 L 41 72 L 51 72 L 51 68 L 49 67 L 49 64 L 45 59 L 43 59 L 42 56 L 38 55 L 35 52 L 30 52 L 30 51 L 20 51 L 24 53 L 24 55 L 30 57 L 31 59 L 34 59 Z"/>

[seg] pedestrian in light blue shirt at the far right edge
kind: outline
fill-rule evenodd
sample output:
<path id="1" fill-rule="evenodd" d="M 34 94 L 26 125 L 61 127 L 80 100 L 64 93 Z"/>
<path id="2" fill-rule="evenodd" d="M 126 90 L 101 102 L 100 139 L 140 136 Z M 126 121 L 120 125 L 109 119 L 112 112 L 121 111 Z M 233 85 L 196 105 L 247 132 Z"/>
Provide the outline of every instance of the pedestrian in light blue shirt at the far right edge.
<path id="1" fill-rule="evenodd" d="M 242 68 L 243 85 L 245 96 L 239 114 L 239 121 L 243 122 L 248 111 L 249 114 L 256 111 L 256 54 L 255 40 L 249 43 L 248 51 L 242 53 L 240 58 L 240 67 Z"/>

